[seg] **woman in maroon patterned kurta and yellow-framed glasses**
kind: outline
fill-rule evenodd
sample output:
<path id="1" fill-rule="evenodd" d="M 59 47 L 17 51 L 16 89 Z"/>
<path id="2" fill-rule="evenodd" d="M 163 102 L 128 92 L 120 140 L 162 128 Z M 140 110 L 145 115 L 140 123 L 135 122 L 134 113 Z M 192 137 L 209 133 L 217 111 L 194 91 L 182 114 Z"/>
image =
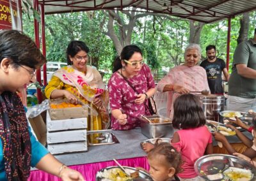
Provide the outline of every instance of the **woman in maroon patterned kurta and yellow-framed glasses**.
<path id="1" fill-rule="evenodd" d="M 124 47 L 120 57 L 116 58 L 108 89 L 112 129 L 133 129 L 140 126 L 138 117 L 150 115 L 144 102 L 147 103 L 147 99 L 156 92 L 155 83 L 136 45 Z"/>

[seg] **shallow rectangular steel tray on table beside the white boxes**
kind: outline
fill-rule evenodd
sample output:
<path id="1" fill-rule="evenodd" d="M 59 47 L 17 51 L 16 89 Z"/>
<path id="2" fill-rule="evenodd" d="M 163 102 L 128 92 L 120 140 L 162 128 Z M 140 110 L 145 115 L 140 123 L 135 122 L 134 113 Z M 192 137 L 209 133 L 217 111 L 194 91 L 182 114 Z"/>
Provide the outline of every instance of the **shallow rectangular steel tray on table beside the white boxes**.
<path id="1" fill-rule="evenodd" d="M 88 131 L 87 132 L 88 145 L 111 145 L 119 143 L 116 136 L 111 132 L 111 129 Z"/>

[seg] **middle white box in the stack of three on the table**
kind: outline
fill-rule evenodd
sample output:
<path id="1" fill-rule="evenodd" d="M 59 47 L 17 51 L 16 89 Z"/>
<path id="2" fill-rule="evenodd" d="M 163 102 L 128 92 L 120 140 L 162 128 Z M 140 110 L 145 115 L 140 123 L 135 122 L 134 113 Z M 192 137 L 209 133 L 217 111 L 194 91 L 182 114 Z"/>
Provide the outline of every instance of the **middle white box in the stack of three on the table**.
<path id="1" fill-rule="evenodd" d="M 72 131 L 47 131 L 47 143 L 65 143 L 71 141 L 86 141 L 86 129 Z"/>

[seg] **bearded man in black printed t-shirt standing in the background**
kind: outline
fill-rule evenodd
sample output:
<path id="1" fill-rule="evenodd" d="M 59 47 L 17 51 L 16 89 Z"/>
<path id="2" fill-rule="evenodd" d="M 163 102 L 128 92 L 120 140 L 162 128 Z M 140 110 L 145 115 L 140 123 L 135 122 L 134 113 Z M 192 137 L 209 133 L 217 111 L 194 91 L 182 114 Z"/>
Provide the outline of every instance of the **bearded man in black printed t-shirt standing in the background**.
<path id="1" fill-rule="evenodd" d="M 200 66 L 202 66 L 207 73 L 207 80 L 211 90 L 211 94 L 223 94 L 221 73 L 228 81 L 229 74 L 226 68 L 225 61 L 216 57 L 216 47 L 208 45 L 206 48 L 207 59 L 205 59 Z"/>

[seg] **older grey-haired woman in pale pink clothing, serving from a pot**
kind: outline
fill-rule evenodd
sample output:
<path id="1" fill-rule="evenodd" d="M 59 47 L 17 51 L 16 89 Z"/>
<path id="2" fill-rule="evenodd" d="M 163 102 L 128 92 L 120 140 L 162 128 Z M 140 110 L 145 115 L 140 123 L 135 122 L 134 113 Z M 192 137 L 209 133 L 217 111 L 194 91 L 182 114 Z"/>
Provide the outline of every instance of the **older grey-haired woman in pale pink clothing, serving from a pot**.
<path id="1" fill-rule="evenodd" d="M 167 115 L 173 117 L 173 102 L 180 93 L 210 90 L 205 69 L 198 66 L 201 58 L 199 45 L 191 44 L 185 50 L 185 63 L 170 69 L 157 84 L 157 91 L 168 91 Z"/>

